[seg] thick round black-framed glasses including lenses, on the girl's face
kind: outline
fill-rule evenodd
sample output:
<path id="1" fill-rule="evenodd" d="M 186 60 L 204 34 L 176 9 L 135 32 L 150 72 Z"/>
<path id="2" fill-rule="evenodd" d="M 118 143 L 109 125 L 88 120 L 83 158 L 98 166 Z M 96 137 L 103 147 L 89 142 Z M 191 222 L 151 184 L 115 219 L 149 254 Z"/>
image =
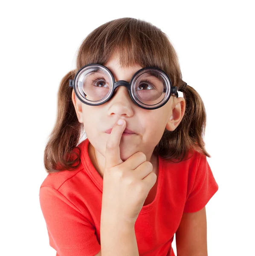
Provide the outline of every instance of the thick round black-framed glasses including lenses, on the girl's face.
<path id="1" fill-rule="evenodd" d="M 113 97 L 115 89 L 123 85 L 133 102 L 144 109 L 160 108 L 168 102 L 171 94 L 177 96 L 177 87 L 172 86 L 169 76 L 159 68 L 144 67 L 130 80 L 115 81 L 113 74 L 101 64 L 87 64 L 69 80 L 77 98 L 90 106 L 104 104 Z"/>

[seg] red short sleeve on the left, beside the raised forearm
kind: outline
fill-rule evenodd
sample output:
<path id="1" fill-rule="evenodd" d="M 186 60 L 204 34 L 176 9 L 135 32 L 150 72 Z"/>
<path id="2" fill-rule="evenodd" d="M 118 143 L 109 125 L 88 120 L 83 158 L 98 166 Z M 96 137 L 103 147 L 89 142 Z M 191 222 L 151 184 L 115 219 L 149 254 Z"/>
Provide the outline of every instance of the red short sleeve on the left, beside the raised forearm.
<path id="1" fill-rule="evenodd" d="M 39 199 L 49 235 L 49 245 L 59 256 L 94 256 L 101 246 L 95 227 L 64 195 L 42 186 Z"/>

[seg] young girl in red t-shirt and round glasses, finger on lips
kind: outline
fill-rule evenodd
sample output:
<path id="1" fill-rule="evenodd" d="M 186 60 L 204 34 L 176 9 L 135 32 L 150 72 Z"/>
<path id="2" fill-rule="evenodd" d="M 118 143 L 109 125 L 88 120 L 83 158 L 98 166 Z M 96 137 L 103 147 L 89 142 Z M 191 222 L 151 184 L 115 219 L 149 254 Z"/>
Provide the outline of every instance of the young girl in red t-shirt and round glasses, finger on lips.
<path id="1" fill-rule="evenodd" d="M 167 35 L 112 20 L 85 38 L 76 65 L 60 84 L 39 194 L 56 256 L 174 256 L 174 234 L 178 256 L 207 255 L 218 185 L 206 111 Z"/>

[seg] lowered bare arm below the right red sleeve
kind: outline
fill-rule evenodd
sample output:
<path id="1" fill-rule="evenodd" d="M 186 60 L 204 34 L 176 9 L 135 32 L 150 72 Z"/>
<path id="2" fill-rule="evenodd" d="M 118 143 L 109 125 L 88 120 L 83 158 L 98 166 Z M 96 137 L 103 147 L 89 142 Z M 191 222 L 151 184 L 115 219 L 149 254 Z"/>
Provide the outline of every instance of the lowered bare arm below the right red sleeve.
<path id="1" fill-rule="evenodd" d="M 183 213 L 175 239 L 177 256 L 208 256 L 206 207 Z"/>

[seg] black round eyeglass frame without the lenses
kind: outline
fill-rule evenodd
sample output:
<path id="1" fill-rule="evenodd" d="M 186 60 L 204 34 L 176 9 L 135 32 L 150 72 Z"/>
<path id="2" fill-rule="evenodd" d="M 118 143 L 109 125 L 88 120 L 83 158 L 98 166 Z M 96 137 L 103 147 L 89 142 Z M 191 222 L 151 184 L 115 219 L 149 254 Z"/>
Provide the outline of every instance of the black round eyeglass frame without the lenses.
<path id="1" fill-rule="evenodd" d="M 92 104 L 92 103 L 89 103 L 89 102 L 85 102 L 85 101 L 78 95 L 78 93 L 76 92 L 76 87 L 75 87 L 75 82 L 76 82 L 77 76 L 79 76 L 80 73 L 82 73 L 82 71 L 84 70 L 84 68 L 86 68 L 86 67 L 88 67 L 88 66 L 93 66 L 93 65 L 98 66 L 98 67 L 102 67 L 103 69 L 106 69 L 106 70 L 109 72 L 109 74 L 110 74 L 110 76 L 111 76 L 111 79 L 112 79 L 112 81 L 113 81 L 113 89 L 111 90 L 110 94 L 108 93 L 107 96 L 105 96 L 106 99 L 105 99 L 103 102 L 95 103 L 95 104 Z M 169 84 L 170 84 L 170 89 L 168 89 L 168 96 L 167 96 L 165 99 L 163 99 L 164 101 L 163 101 L 163 103 L 162 103 L 161 105 L 159 105 L 159 106 L 157 106 L 157 107 L 154 107 L 154 108 L 146 108 L 145 106 L 142 106 L 142 105 L 140 105 L 138 102 L 136 102 L 135 97 L 133 97 L 133 95 L 132 95 L 132 90 L 131 90 L 131 84 L 133 84 L 133 80 L 136 79 L 137 74 L 139 74 L 139 73 L 142 72 L 143 70 L 148 70 L 148 69 L 159 70 L 160 73 L 162 73 L 162 74 L 168 79 L 168 82 L 169 82 Z M 133 102 L 134 102 L 137 106 L 139 106 L 140 108 L 143 108 L 143 109 L 153 110 L 153 109 L 161 108 L 162 106 L 164 106 L 164 105 L 168 102 L 168 100 L 170 99 L 171 95 L 174 95 L 174 96 L 176 96 L 176 97 L 178 98 L 177 87 L 176 87 L 176 86 L 172 86 L 172 82 L 171 82 L 171 79 L 169 78 L 169 76 L 168 76 L 163 70 L 161 70 L 161 69 L 159 69 L 159 68 L 157 68 L 157 67 L 143 67 L 143 68 L 141 68 L 140 70 L 136 71 L 136 73 L 132 76 L 132 78 L 131 78 L 131 80 L 130 80 L 130 83 L 129 83 L 129 82 L 124 81 L 124 80 L 115 81 L 113 74 L 110 72 L 110 70 L 109 70 L 107 67 L 105 67 L 104 65 L 101 65 L 101 64 L 91 63 L 91 64 L 87 64 L 87 65 L 81 67 L 81 68 L 78 70 L 78 72 L 76 73 L 74 79 L 70 79 L 70 80 L 69 80 L 69 87 L 73 87 L 74 92 L 75 92 L 75 95 L 77 96 L 77 98 L 78 98 L 81 102 L 83 102 L 84 104 L 90 105 L 90 106 L 98 106 L 98 105 L 102 105 L 102 104 L 108 102 L 110 99 L 112 99 L 113 94 L 114 94 L 116 88 L 117 88 L 118 86 L 120 86 L 120 85 L 123 85 L 123 86 L 125 86 L 125 87 L 127 88 L 128 92 L 129 92 L 129 95 L 130 95 L 130 98 L 133 100 Z M 138 99 L 137 99 L 137 100 L 138 100 Z M 145 105 L 146 105 L 146 104 L 145 104 Z"/>

